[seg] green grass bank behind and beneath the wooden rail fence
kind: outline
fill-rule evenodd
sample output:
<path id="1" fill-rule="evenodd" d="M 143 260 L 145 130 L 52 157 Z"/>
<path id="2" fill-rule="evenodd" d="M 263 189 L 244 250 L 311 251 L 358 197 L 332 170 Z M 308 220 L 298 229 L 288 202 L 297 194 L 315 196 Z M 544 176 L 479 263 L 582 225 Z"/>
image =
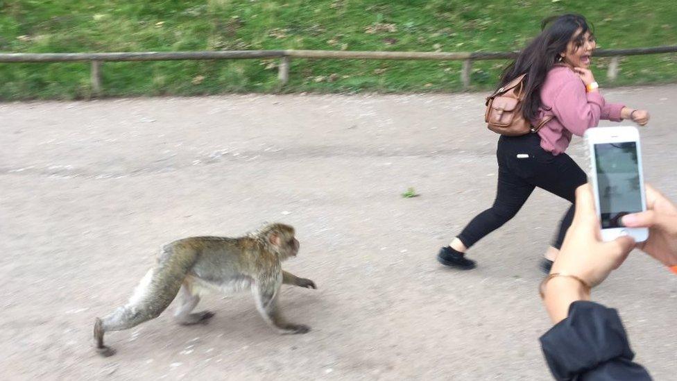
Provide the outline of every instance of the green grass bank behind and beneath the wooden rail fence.
<path id="1" fill-rule="evenodd" d="M 0 51 L 195 51 L 348 49 L 508 51 L 540 19 L 581 12 L 603 48 L 677 44 L 674 0 L 0 0 Z M 475 62 L 474 90 L 505 61 Z M 608 59 L 595 62 L 606 83 Z M 104 62 L 106 96 L 224 92 L 448 92 L 461 90 L 461 62 L 277 60 Z M 615 85 L 674 82 L 677 54 L 623 58 Z M 0 99 L 91 95 L 87 63 L 0 64 Z"/>

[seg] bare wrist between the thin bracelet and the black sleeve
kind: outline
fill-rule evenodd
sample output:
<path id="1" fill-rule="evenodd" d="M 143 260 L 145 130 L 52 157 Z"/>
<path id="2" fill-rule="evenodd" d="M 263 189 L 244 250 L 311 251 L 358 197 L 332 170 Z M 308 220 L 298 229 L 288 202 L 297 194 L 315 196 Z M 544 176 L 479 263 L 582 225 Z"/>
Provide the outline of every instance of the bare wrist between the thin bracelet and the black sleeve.
<path id="1" fill-rule="evenodd" d="M 576 300 L 590 300 L 590 292 L 578 280 L 558 276 L 545 285 L 543 303 L 554 324 L 567 317 L 569 306 Z"/>

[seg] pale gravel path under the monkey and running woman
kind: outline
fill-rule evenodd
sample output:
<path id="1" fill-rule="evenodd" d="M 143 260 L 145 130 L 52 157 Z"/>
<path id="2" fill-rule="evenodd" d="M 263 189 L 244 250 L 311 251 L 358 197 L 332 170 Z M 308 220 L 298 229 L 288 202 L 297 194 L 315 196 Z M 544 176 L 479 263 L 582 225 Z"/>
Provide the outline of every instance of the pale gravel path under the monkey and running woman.
<path id="1" fill-rule="evenodd" d="M 650 110 L 646 179 L 677 199 L 677 85 L 605 94 Z M 0 379 L 547 380 L 538 261 L 567 202 L 535 192 L 472 248 L 474 271 L 435 260 L 494 196 L 483 96 L 0 103 Z M 569 152 L 582 163 L 580 138 Z M 208 325 L 163 314 L 94 353 L 94 316 L 162 244 L 263 221 L 297 228 L 285 268 L 319 289 L 280 303 L 309 334 L 275 334 L 248 293 L 214 295 Z M 674 378 L 677 277 L 635 252 L 594 298 L 619 308 L 637 360 Z"/>

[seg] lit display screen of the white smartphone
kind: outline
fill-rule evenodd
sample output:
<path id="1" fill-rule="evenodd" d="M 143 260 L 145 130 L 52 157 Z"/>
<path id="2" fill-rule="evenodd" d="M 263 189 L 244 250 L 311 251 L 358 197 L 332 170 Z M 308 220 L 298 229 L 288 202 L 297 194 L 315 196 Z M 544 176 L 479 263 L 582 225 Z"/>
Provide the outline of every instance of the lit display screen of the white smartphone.
<path id="1" fill-rule="evenodd" d="M 637 144 L 594 144 L 594 156 L 602 228 L 620 228 L 621 217 L 642 212 Z"/>

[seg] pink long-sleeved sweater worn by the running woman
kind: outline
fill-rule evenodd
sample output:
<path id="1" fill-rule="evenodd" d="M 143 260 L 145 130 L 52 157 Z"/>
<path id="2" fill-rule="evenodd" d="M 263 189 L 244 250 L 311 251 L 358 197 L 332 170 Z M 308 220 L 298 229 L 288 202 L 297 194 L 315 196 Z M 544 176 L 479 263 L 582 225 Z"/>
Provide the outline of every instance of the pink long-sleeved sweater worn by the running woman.
<path id="1" fill-rule="evenodd" d="M 556 66 L 548 72 L 540 90 L 539 120 L 547 115 L 554 119 L 538 130 L 540 146 L 559 155 L 563 153 L 572 134 L 583 136 L 585 130 L 597 127 L 599 119 L 622 121 L 624 105 L 606 103 L 599 92 L 585 92 L 585 85 L 575 71 Z M 538 121 L 532 121 L 538 124 Z"/>

